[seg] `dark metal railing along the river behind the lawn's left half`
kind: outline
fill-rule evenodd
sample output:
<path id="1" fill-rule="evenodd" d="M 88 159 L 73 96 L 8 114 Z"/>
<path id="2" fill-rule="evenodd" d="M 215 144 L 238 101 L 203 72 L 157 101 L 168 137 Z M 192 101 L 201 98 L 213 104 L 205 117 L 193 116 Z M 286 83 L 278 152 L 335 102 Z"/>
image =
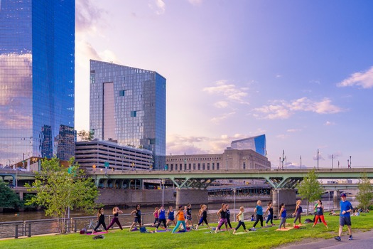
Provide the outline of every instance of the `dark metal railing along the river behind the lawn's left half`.
<path id="1" fill-rule="evenodd" d="M 112 221 L 114 216 L 106 216 L 106 225 Z M 153 213 L 141 213 L 143 224 L 152 224 L 154 221 Z M 66 233 L 76 233 L 85 228 L 90 221 L 97 223 L 97 216 L 74 217 L 66 220 Z M 134 216 L 130 214 L 119 215 L 119 221 L 123 228 L 131 226 Z M 114 224 L 113 228 L 119 228 Z M 8 221 L 0 222 L 0 238 L 24 238 L 33 235 L 58 233 L 57 219 L 40 219 L 31 221 Z"/>

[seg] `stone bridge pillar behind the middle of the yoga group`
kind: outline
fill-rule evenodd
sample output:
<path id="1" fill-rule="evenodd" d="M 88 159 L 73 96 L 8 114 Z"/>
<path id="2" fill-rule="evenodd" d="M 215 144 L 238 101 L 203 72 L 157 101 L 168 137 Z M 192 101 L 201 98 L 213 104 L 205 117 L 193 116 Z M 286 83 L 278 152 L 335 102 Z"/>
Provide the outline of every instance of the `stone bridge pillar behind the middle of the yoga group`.
<path id="1" fill-rule="evenodd" d="M 207 189 L 177 189 L 176 191 L 176 208 L 186 204 L 199 205 L 208 203 Z"/>

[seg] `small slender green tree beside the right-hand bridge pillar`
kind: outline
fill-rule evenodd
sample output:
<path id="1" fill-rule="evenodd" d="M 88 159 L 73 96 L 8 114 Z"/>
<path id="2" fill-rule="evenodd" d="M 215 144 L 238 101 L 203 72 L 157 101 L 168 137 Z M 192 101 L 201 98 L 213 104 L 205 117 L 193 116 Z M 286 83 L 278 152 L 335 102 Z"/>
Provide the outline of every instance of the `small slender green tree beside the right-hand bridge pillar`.
<path id="1" fill-rule="evenodd" d="M 307 199 L 307 215 L 308 215 L 308 206 L 310 202 L 318 200 L 323 194 L 323 186 L 321 186 L 318 181 L 318 174 L 315 174 L 315 169 L 312 169 L 308 174 L 303 178 L 300 184 L 297 186 L 298 194 L 302 196 L 302 199 Z"/>

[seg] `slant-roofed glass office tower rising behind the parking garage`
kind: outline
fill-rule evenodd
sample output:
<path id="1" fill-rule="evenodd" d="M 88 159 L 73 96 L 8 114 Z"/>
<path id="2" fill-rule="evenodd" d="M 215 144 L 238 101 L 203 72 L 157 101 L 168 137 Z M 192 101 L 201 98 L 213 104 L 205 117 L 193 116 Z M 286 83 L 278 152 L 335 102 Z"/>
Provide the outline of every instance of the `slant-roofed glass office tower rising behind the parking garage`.
<path id="1" fill-rule="evenodd" d="M 90 61 L 90 129 L 94 139 L 153 152 L 166 165 L 166 78 L 154 71 Z"/>

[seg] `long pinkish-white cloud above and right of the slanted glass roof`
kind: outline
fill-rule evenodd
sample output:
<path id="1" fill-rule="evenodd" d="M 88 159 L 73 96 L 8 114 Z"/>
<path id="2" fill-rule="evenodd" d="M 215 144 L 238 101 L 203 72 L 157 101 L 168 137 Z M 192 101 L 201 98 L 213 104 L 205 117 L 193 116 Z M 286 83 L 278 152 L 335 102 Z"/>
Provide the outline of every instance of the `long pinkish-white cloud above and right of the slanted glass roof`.
<path id="1" fill-rule="evenodd" d="M 320 101 L 313 101 L 307 97 L 301 97 L 291 102 L 275 100 L 273 105 L 264 105 L 263 107 L 254 108 L 253 116 L 258 119 L 285 120 L 291 117 L 295 112 L 315 112 L 318 114 L 342 112 L 340 107 L 332 105 L 331 102 L 332 101 L 327 97 Z"/>

